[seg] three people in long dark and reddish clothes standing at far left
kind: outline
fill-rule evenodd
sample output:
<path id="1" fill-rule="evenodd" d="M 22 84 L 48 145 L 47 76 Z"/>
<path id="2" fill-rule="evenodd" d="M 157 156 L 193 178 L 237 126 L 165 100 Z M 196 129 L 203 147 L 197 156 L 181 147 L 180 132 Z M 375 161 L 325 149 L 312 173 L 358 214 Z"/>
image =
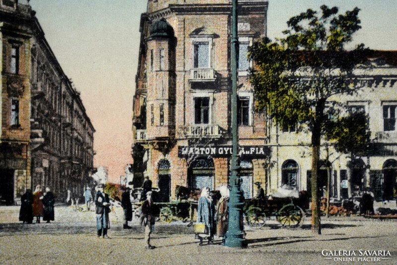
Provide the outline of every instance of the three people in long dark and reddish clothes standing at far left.
<path id="1" fill-rule="evenodd" d="M 54 221 L 55 196 L 49 187 L 43 193 L 41 185 L 37 185 L 34 193 L 30 189 L 21 197 L 21 209 L 19 211 L 19 220 L 23 223 L 33 223 L 36 217 L 36 223 L 40 223 L 40 218 L 47 223 Z"/>

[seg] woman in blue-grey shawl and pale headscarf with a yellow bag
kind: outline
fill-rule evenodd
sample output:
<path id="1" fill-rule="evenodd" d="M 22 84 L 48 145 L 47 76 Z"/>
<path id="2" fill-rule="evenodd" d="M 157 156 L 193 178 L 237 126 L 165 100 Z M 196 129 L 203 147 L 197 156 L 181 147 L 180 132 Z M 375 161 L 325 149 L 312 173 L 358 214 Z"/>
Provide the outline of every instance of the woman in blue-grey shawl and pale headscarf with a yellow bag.
<path id="1" fill-rule="evenodd" d="M 215 207 L 209 198 L 209 188 L 204 187 L 201 190 L 199 205 L 197 209 L 197 221 L 205 224 L 208 232 L 208 245 L 213 244 L 212 239 L 215 228 Z M 201 240 L 200 240 L 201 243 Z"/>

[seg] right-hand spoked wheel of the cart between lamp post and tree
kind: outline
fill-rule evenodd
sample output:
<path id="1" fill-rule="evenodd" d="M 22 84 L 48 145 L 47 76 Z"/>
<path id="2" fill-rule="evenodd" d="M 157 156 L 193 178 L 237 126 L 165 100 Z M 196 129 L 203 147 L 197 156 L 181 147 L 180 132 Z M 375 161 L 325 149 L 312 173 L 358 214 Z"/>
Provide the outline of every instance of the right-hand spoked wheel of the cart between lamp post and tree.
<path id="1" fill-rule="evenodd" d="M 284 205 L 277 213 L 277 221 L 286 228 L 300 227 L 305 217 L 305 212 L 294 204 Z"/>

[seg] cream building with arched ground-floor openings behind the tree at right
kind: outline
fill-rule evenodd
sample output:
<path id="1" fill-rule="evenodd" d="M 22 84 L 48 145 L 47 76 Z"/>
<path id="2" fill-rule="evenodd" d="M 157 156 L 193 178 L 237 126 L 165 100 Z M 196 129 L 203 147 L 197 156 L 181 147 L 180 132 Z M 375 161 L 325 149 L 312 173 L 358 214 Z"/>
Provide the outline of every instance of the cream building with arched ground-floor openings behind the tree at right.
<path id="1" fill-rule="evenodd" d="M 369 152 L 364 157 L 338 153 L 332 143 L 322 139 L 318 185 L 323 195 L 329 190 L 331 200 L 361 197 L 365 188 L 370 188 L 378 201 L 396 198 L 396 58 L 396 52 L 375 51 L 365 65 L 354 70 L 356 85 L 361 88 L 358 93 L 329 99 L 342 104 L 345 111 L 361 111 L 368 115 L 371 131 Z M 271 122 L 268 128 L 271 166 L 267 190 L 272 193 L 285 187 L 310 191 L 310 135 L 297 133 L 297 127 L 283 128 Z"/>

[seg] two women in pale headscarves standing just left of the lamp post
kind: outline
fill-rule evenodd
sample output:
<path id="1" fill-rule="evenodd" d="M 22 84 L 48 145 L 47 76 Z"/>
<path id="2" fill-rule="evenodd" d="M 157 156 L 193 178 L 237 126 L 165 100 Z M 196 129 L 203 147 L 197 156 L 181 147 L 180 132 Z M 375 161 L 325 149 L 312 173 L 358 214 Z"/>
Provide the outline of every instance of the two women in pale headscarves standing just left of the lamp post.
<path id="1" fill-rule="evenodd" d="M 221 186 L 219 192 L 221 198 L 216 206 L 210 195 L 209 187 L 202 188 L 199 198 L 197 222 L 205 225 L 209 245 L 213 244 L 214 235 L 224 238 L 228 227 L 227 201 L 229 199 L 229 189 L 226 186 Z"/>

